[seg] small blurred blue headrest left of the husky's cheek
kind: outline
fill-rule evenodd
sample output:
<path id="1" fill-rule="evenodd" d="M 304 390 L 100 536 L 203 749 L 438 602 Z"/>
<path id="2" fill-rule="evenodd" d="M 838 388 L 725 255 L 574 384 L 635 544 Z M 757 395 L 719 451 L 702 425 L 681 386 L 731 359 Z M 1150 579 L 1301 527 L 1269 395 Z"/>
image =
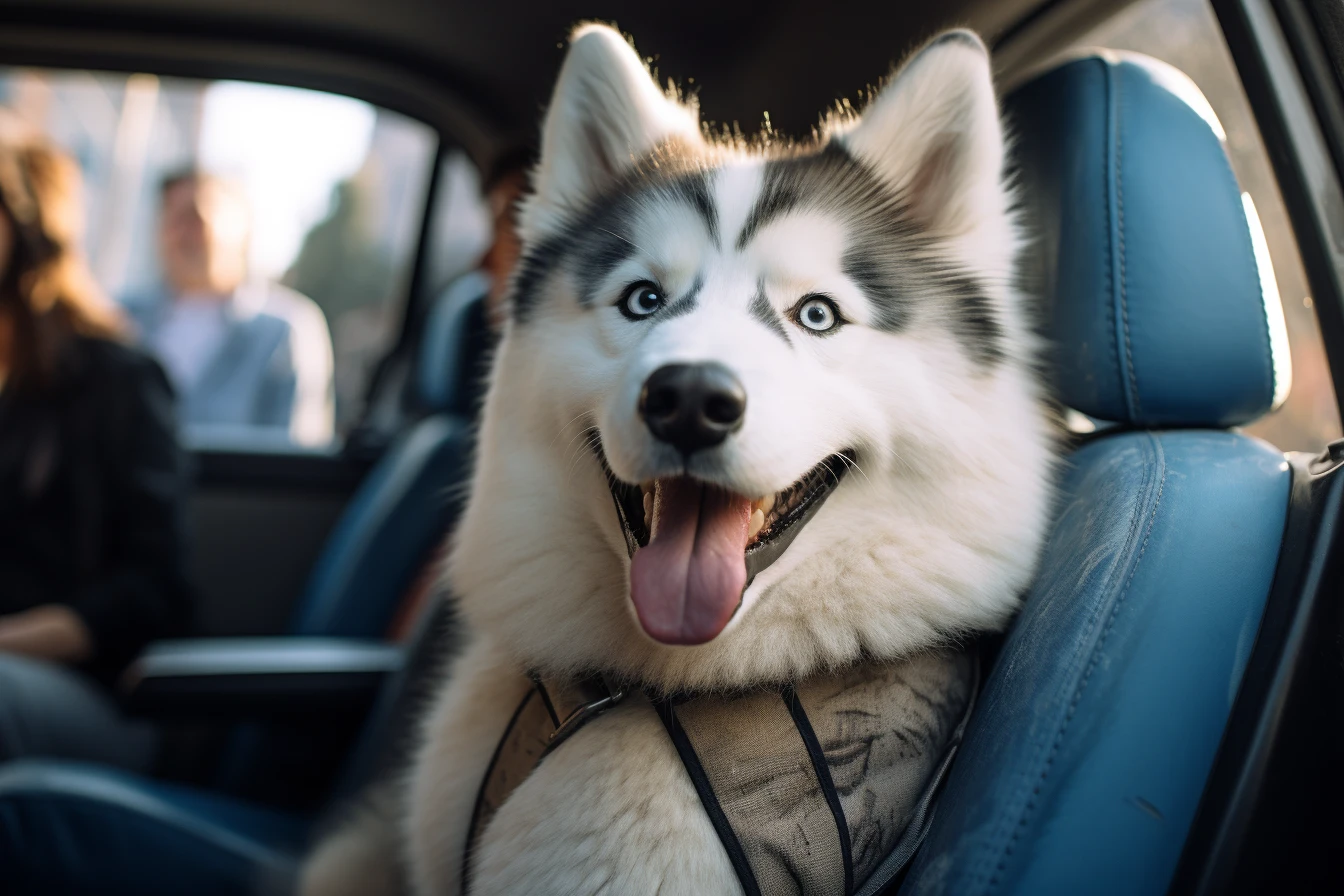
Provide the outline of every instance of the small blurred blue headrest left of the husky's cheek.
<path id="1" fill-rule="evenodd" d="M 484 357 L 492 343 L 485 320 L 488 292 L 489 279 L 470 271 L 434 300 L 415 369 L 417 400 L 423 410 L 474 415 L 485 388 Z"/>

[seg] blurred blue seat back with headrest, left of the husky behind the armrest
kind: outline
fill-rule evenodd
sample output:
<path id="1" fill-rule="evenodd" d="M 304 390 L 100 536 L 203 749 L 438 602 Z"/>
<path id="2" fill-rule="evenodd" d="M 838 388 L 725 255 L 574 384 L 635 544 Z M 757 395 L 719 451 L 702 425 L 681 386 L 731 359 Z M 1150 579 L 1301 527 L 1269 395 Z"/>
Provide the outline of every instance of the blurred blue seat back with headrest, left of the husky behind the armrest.
<path id="1" fill-rule="evenodd" d="M 470 478 L 472 415 L 491 344 L 484 292 L 484 281 L 469 274 L 430 309 L 411 382 L 421 416 L 388 446 L 328 537 L 292 634 L 382 639 L 394 621 L 414 613 L 406 603 L 457 520 Z M 310 805 L 355 733 L 241 725 L 211 785 L 271 803 Z"/>

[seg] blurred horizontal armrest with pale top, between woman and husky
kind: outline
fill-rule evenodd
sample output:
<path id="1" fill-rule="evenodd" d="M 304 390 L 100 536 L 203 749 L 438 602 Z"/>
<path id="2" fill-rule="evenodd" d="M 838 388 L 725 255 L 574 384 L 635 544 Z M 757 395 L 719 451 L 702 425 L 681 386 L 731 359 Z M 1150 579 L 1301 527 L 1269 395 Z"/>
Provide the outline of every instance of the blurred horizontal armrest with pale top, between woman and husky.
<path id="1" fill-rule="evenodd" d="M 159 719 L 362 715 L 403 653 L 353 638 L 160 641 L 122 674 L 122 703 Z"/>

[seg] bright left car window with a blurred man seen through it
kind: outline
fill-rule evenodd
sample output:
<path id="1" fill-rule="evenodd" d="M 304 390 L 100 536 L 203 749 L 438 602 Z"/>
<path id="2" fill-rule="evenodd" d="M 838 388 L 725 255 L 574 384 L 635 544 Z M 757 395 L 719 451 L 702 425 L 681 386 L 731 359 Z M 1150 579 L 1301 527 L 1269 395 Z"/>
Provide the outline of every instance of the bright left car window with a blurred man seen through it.
<path id="1" fill-rule="evenodd" d="M 396 337 L 437 133 L 233 81 L 0 69 L 85 175 L 85 247 L 198 447 L 323 447 Z"/>

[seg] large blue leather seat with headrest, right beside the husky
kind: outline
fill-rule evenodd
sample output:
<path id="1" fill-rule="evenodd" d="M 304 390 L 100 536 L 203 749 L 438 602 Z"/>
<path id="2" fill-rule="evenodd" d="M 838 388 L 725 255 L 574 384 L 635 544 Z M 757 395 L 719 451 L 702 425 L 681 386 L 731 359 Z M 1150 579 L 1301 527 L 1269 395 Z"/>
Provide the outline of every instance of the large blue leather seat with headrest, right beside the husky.
<path id="1" fill-rule="evenodd" d="M 1193 83 L 1101 54 L 1007 101 L 1066 458 L 1036 583 L 902 893 L 1163 893 L 1278 562 L 1289 384 L 1267 255 Z"/>

